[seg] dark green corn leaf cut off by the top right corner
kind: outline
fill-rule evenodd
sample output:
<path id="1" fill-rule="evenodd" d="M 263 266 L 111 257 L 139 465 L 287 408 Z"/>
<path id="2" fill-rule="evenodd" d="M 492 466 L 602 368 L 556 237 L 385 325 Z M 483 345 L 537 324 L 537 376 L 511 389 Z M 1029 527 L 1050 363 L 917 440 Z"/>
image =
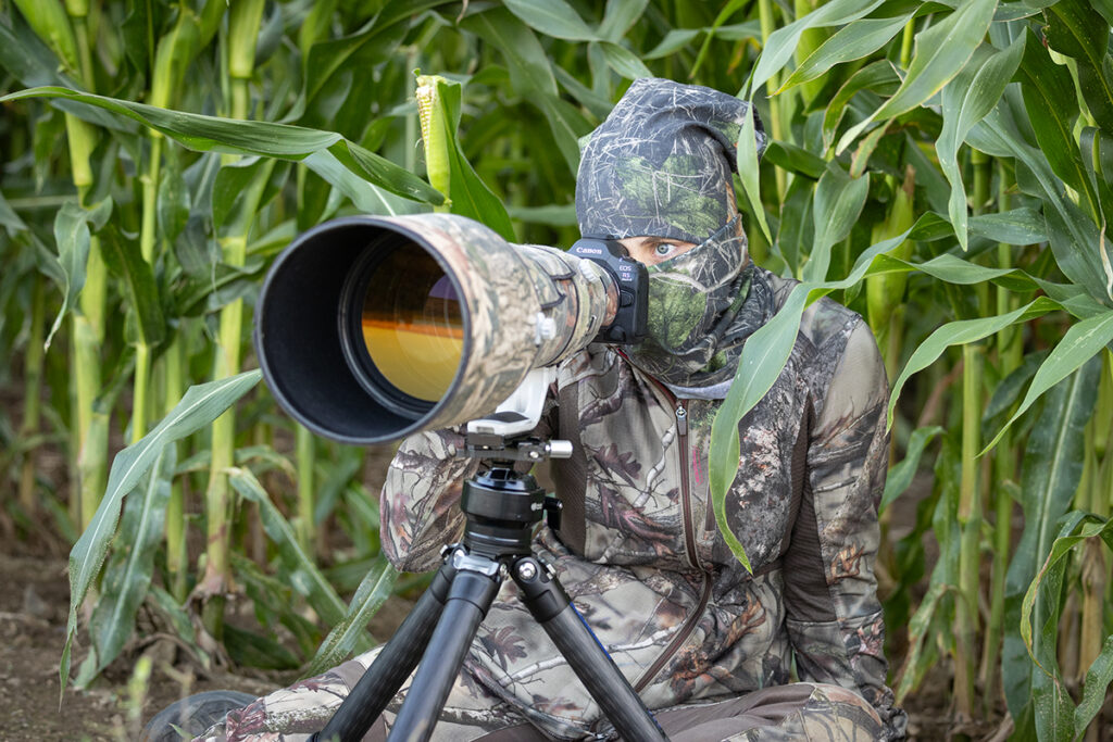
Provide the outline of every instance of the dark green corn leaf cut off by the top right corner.
<path id="1" fill-rule="evenodd" d="M 1110 27 L 1089 2 L 1060 0 L 1044 11 L 1047 44 L 1073 57 L 1077 90 L 1095 121 L 1113 133 L 1113 65 L 1109 56 Z"/>

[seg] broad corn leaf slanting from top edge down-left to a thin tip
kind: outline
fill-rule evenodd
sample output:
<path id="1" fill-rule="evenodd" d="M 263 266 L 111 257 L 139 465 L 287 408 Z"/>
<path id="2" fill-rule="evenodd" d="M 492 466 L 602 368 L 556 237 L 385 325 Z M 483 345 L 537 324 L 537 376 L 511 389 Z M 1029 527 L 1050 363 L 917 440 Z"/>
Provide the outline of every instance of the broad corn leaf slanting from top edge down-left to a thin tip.
<path id="1" fill-rule="evenodd" d="M 958 10 L 916 37 L 916 53 L 900 88 L 839 140 L 841 152 L 875 120 L 910 111 L 937 93 L 966 66 L 989 29 L 996 0 L 968 0 Z"/>

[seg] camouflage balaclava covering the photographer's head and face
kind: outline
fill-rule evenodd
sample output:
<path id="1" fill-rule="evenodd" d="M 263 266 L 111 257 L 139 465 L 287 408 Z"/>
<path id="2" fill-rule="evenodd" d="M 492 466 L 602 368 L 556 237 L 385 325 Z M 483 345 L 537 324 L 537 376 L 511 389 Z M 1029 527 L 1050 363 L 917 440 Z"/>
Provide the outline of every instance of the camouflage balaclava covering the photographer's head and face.
<path id="1" fill-rule="evenodd" d="M 649 266 L 649 338 L 623 348 L 673 387 L 729 383 L 742 343 L 767 318 L 768 286 L 747 259 L 731 179 L 748 108 L 710 88 L 643 78 L 583 147 L 582 234 L 697 245 Z M 760 155 L 766 137 L 756 115 L 755 129 Z"/>

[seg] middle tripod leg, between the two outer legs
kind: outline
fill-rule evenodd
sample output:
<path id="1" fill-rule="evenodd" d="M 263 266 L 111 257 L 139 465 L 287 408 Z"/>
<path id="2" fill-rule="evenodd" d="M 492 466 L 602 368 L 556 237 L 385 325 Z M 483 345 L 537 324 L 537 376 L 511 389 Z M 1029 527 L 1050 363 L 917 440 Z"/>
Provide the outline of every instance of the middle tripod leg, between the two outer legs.
<path id="1" fill-rule="evenodd" d="M 499 563 L 456 552 L 456 576 L 388 740 L 425 742 L 460 674 L 480 622 L 499 593 Z M 461 558 L 462 557 L 462 558 Z"/>

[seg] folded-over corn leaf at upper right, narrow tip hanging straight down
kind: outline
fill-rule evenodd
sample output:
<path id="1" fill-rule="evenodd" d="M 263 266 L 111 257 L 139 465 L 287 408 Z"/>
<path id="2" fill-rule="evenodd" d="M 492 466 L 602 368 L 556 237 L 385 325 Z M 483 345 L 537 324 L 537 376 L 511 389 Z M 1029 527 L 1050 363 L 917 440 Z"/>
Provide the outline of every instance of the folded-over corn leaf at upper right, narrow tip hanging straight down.
<path id="1" fill-rule="evenodd" d="M 943 131 L 935 150 L 939 166 L 951 182 L 947 214 L 963 250 L 967 249 L 966 191 L 958 168 L 958 148 L 971 128 L 997 105 L 1005 86 L 1012 80 L 1024 52 L 1022 36 L 1008 49 L 991 52 L 982 47 L 971 62 L 943 89 Z"/>

